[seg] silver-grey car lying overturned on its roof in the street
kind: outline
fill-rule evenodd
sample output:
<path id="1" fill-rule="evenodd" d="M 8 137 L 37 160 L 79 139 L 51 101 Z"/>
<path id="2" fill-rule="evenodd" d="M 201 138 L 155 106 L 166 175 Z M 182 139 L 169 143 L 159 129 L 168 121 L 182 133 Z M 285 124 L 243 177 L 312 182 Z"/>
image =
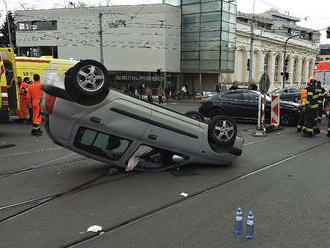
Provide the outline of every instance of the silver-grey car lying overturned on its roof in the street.
<path id="1" fill-rule="evenodd" d="M 243 139 L 231 118 L 206 124 L 110 89 L 109 83 L 107 69 L 93 60 L 77 63 L 64 78 L 45 79 L 45 127 L 56 144 L 135 170 L 226 165 L 241 155 Z"/>

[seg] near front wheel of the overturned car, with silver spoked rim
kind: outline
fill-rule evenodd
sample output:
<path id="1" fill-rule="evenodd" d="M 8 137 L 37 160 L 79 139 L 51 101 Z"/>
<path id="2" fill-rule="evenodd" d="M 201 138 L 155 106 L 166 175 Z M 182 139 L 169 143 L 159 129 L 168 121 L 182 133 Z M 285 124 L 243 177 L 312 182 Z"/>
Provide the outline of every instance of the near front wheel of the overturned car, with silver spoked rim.
<path id="1" fill-rule="evenodd" d="M 217 116 L 209 122 L 209 140 L 217 145 L 231 145 L 237 135 L 237 125 L 235 121 L 224 115 Z"/>

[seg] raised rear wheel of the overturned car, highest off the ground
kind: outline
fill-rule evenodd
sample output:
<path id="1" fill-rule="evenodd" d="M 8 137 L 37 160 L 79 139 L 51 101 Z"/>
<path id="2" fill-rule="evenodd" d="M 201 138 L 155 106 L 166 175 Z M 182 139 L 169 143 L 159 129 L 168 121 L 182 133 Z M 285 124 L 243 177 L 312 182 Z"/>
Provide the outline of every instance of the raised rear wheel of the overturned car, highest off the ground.
<path id="1" fill-rule="evenodd" d="M 80 61 L 65 74 L 65 90 L 75 98 L 104 96 L 109 82 L 107 69 L 95 60 Z"/>

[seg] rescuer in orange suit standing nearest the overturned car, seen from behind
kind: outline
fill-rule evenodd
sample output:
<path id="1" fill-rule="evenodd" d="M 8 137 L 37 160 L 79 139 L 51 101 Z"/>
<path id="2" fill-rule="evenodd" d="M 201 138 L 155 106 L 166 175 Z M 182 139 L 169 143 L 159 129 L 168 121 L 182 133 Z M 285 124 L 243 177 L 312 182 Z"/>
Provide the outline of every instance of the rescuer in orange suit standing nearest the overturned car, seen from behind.
<path id="1" fill-rule="evenodd" d="M 41 89 L 41 82 L 39 74 L 33 75 L 33 84 L 31 84 L 28 88 L 27 98 L 32 104 L 33 109 L 33 116 L 32 116 L 32 130 L 31 135 L 39 136 L 42 135 L 42 131 L 40 129 L 40 124 L 42 122 L 42 115 L 41 115 L 41 97 L 42 97 L 42 89 Z"/>

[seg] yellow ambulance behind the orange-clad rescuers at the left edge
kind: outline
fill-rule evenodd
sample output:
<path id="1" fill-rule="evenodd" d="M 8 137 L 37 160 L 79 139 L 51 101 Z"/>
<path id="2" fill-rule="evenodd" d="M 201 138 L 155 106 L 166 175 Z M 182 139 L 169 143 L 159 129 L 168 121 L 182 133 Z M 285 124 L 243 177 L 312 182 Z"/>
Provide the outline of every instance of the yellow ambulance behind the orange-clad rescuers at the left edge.
<path id="1" fill-rule="evenodd" d="M 19 89 L 17 77 L 29 77 L 39 74 L 41 82 L 50 72 L 64 74 L 76 64 L 76 60 L 54 59 L 51 56 L 40 58 L 17 57 L 13 48 L 0 48 L 0 122 L 16 115 L 19 110 Z M 1 73 L 2 72 L 2 73 Z"/>

